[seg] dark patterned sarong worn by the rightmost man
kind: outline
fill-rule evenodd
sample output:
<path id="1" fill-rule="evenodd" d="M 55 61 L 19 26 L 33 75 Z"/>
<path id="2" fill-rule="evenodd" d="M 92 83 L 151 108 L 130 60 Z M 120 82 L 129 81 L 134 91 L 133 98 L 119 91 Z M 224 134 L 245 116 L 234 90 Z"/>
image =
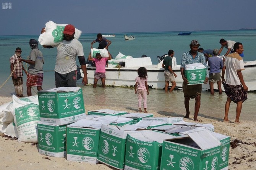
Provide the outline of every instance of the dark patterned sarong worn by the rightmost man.
<path id="1" fill-rule="evenodd" d="M 243 90 L 242 85 L 228 85 L 225 82 L 223 83 L 226 95 L 234 102 L 245 101 L 247 99 L 247 92 Z"/>

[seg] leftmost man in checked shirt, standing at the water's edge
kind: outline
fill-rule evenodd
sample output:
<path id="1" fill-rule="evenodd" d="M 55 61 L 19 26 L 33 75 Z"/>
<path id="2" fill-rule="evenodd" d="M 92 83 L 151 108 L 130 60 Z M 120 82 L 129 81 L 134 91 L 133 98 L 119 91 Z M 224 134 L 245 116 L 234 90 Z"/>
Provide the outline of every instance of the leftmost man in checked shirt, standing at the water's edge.
<path id="1" fill-rule="evenodd" d="M 19 59 L 21 59 L 21 48 L 16 48 L 15 54 L 11 56 L 11 78 L 13 79 L 13 85 L 17 97 L 23 97 L 23 72 L 27 74 Z"/>

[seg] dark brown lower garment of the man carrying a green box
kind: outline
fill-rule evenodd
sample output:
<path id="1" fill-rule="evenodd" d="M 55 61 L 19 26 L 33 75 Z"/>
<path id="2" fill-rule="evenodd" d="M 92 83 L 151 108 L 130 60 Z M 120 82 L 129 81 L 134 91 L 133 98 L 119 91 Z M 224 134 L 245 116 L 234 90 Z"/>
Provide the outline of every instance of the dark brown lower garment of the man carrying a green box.
<path id="1" fill-rule="evenodd" d="M 202 84 L 188 85 L 183 82 L 182 90 L 185 98 L 190 97 L 191 99 L 193 99 L 196 96 L 201 95 Z"/>

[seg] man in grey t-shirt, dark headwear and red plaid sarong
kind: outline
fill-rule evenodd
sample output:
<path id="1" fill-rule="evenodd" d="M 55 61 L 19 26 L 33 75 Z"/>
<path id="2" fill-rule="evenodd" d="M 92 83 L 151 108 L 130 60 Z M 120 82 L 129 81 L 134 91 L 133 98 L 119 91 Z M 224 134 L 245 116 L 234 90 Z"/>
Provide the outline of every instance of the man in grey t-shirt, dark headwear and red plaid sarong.
<path id="1" fill-rule="evenodd" d="M 37 90 L 43 90 L 43 78 L 44 78 L 44 71 L 43 71 L 43 64 L 44 64 L 44 57 L 42 52 L 37 48 L 38 42 L 35 39 L 29 40 L 29 46 L 32 49 L 30 55 L 27 59 L 19 59 L 19 61 L 24 61 L 25 63 L 30 64 L 28 67 L 28 75 L 27 75 L 27 94 L 31 96 L 31 88 L 33 86 L 37 87 Z"/>

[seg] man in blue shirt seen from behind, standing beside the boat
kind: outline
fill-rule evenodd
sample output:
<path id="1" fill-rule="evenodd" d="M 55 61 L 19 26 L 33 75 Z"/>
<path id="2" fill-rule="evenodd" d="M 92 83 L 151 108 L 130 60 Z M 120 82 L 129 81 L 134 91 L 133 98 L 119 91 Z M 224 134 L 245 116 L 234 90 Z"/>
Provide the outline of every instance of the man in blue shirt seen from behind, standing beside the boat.
<path id="1" fill-rule="evenodd" d="M 223 68 L 223 61 L 221 58 L 217 57 L 219 53 L 218 49 L 214 49 L 212 53 L 214 56 L 208 59 L 208 66 L 210 66 L 210 72 L 209 72 L 210 91 L 211 91 L 211 95 L 214 95 L 213 84 L 217 83 L 219 94 L 221 95 L 222 89 L 221 89 L 220 69 Z"/>

